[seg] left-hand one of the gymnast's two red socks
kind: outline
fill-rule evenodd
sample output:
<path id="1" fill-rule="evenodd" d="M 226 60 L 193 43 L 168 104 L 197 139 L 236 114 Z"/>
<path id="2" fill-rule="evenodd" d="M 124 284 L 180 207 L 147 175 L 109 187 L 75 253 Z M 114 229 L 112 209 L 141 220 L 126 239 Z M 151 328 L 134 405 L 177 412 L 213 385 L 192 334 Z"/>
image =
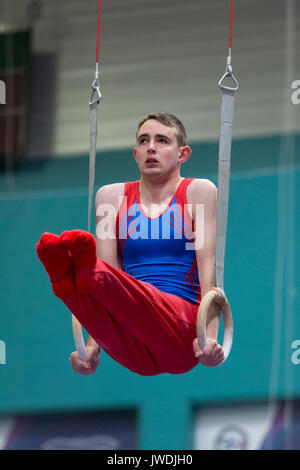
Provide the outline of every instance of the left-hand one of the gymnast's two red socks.
<path id="1" fill-rule="evenodd" d="M 69 297 L 75 290 L 72 259 L 59 237 L 44 233 L 36 244 L 36 251 L 49 274 L 54 294 Z"/>

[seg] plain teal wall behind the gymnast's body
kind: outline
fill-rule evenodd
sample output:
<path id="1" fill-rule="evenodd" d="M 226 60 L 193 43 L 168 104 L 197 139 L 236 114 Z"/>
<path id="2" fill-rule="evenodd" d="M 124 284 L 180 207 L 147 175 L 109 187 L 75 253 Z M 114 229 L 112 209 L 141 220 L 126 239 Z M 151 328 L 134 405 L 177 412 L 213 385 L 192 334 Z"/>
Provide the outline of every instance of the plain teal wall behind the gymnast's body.
<path id="1" fill-rule="evenodd" d="M 268 399 L 278 302 L 275 392 L 286 394 L 288 376 L 289 393 L 299 396 L 300 365 L 290 360 L 291 343 L 300 339 L 299 294 L 289 282 L 297 286 L 300 280 L 299 244 L 293 245 L 300 237 L 300 171 L 299 158 L 292 167 L 279 166 L 280 142 L 233 142 L 225 266 L 232 352 L 221 367 L 199 366 L 178 376 L 140 377 L 103 352 L 94 376 L 70 368 L 71 315 L 52 294 L 35 243 L 45 231 L 87 228 L 87 157 L 22 164 L 13 179 L 1 175 L 0 340 L 6 363 L 0 363 L 0 413 L 135 408 L 140 448 L 188 449 L 194 406 Z M 299 150 L 299 136 L 294 142 Z M 182 175 L 217 182 L 217 143 L 192 148 Z M 96 187 L 137 178 L 130 150 L 98 153 Z"/>

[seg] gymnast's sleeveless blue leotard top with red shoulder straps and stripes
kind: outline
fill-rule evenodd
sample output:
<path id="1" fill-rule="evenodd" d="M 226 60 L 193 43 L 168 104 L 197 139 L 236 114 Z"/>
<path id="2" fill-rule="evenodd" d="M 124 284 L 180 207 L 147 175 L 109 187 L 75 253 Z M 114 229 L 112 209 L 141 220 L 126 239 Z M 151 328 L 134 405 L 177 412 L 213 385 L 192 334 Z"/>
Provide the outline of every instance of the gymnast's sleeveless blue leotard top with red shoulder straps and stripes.
<path id="1" fill-rule="evenodd" d="M 199 303 L 200 286 L 193 245 L 192 219 L 186 203 L 184 179 L 167 209 L 147 217 L 139 200 L 139 182 L 126 183 L 126 206 L 117 223 L 122 268 L 131 276 L 163 292 Z"/>

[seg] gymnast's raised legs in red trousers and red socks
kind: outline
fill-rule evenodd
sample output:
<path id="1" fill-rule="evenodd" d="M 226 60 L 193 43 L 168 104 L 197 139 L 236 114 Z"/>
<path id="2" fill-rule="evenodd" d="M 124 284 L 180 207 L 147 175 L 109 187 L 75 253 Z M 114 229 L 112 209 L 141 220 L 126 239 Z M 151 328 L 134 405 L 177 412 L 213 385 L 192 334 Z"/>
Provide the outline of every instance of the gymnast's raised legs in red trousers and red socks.
<path id="1" fill-rule="evenodd" d="M 44 233 L 36 249 L 54 294 L 119 364 L 147 376 L 180 374 L 198 364 L 198 305 L 97 258 L 88 232 Z"/>

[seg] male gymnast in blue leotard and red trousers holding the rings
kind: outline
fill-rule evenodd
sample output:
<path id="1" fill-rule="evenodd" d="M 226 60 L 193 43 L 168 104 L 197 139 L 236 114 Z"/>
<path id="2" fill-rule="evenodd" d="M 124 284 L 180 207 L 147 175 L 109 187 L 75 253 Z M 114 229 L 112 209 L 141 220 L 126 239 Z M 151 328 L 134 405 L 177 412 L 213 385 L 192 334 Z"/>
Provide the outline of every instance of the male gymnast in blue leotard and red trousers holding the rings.
<path id="1" fill-rule="evenodd" d="M 89 334 L 86 361 L 71 354 L 76 372 L 94 373 L 101 349 L 146 376 L 224 360 L 217 306 L 208 312 L 203 351 L 195 338 L 199 303 L 214 282 L 217 188 L 180 176 L 190 155 L 182 122 L 149 114 L 133 149 L 140 180 L 96 194 L 96 239 L 72 230 L 38 242 L 54 294 Z"/>

